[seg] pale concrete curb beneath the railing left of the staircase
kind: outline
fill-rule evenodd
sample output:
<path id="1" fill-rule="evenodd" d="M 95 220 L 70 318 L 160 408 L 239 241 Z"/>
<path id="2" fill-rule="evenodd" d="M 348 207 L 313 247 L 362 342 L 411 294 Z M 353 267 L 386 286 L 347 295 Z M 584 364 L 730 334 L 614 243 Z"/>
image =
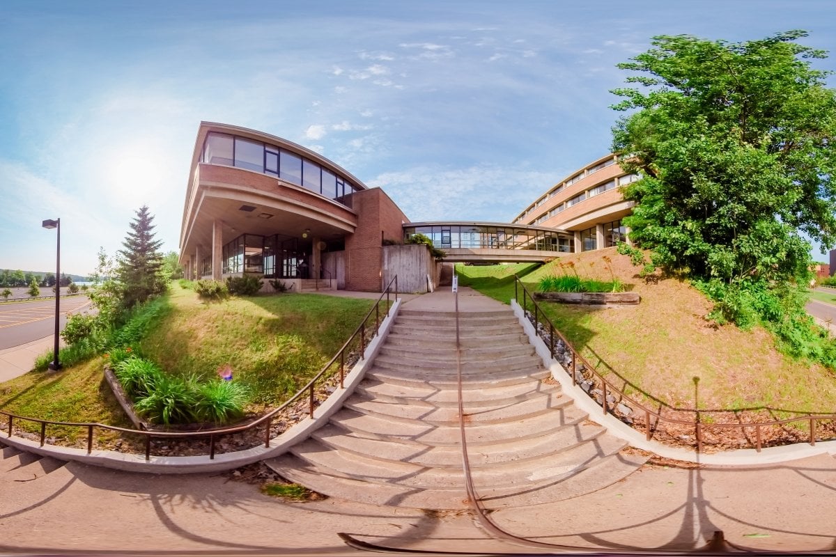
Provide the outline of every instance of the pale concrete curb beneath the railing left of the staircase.
<path id="1" fill-rule="evenodd" d="M 334 415 L 340 408 L 343 407 L 345 399 L 347 399 L 354 392 L 354 389 L 363 380 L 365 372 L 372 366 L 375 361 L 380 347 L 385 342 L 389 335 L 390 328 L 395 322 L 395 316 L 400 311 L 401 299 L 398 298 L 391 306 L 390 314 L 380 323 L 380 329 L 377 337 L 375 337 L 369 346 L 366 347 L 364 358 L 357 362 L 351 371 L 344 377 L 344 389 L 334 391 L 324 403 L 320 404 L 314 410 L 314 418 L 305 418 L 301 422 L 296 423 L 288 431 L 282 433 L 277 438 L 270 440 L 270 447 L 265 448 L 263 445 L 253 448 L 247 448 L 242 451 L 235 451 L 232 453 L 215 454 L 214 459 L 210 459 L 209 455 L 201 455 L 196 457 L 155 457 L 152 456 L 150 460 L 145 460 L 144 454 L 131 453 L 117 453 L 116 451 L 93 451 L 88 454 L 82 448 L 66 448 L 56 447 L 53 445 L 39 446 L 37 441 L 31 441 L 16 436 L 7 437 L 0 436 L 0 442 L 9 445 L 19 450 L 28 453 L 39 454 L 41 456 L 48 456 L 58 458 L 60 460 L 74 460 L 84 464 L 92 464 L 94 466 L 101 466 L 104 468 L 114 468 L 117 470 L 125 470 L 128 472 L 145 472 L 145 473 L 204 473 L 217 472 L 222 470 L 230 470 L 238 468 L 245 464 L 251 464 L 264 460 L 266 458 L 274 458 L 288 451 L 296 443 L 301 443 L 307 439 L 311 433 L 321 428 L 328 423 L 329 418 Z"/>

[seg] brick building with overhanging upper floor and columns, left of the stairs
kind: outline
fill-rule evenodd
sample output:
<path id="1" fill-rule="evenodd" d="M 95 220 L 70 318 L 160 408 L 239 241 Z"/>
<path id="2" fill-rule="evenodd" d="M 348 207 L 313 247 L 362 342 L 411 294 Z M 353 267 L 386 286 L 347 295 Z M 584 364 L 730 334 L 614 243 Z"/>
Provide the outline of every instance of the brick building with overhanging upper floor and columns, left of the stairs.
<path id="1" fill-rule="evenodd" d="M 380 290 L 380 246 L 406 217 L 388 195 L 287 139 L 201 122 L 183 208 L 186 276 Z M 370 269 L 372 271 L 370 271 Z M 297 282 L 293 282 L 297 281 Z"/>

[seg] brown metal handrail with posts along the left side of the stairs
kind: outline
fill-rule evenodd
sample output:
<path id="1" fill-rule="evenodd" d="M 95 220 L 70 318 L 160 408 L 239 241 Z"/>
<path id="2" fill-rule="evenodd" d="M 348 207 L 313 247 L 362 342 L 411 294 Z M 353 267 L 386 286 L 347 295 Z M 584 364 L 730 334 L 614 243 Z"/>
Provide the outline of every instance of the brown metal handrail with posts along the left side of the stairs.
<path id="1" fill-rule="evenodd" d="M 395 286 L 393 291 L 392 286 Z M 384 296 L 386 297 L 386 311 L 383 316 L 385 319 L 386 316 L 389 316 L 390 310 L 390 294 L 395 295 L 395 301 L 397 298 L 397 285 L 398 285 L 398 277 L 395 276 L 390 282 L 389 285 L 386 286 L 385 291 L 380 294 L 380 297 L 375 301 L 375 306 L 371 307 L 366 315 L 363 317 L 363 320 L 360 322 L 359 326 L 354 330 L 349 340 L 347 340 L 343 347 L 339 349 L 334 357 L 332 357 L 328 363 L 314 376 L 310 381 L 308 381 L 304 387 L 300 388 L 293 397 L 288 398 L 283 404 L 278 406 L 278 408 L 273 408 L 273 410 L 269 411 L 268 413 L 264 413 L 261 417 L 252 420 L 250 423 L 232 426 L 229 428 L 209 428 L 209 429 L 202 429 L 196 432 L 171 432 L 171 431 L 149 431 L 144 429 L 131 429 L 131 428 L 120 428 L 119 426 L 112 426 L 106 423 L 78 423 L 78 422 L 55 422 L 52 420 L 43 420 L 40 418 L 30 418 L 28 416 L 19 416 L 18 414 L 5 412 L 0 410 L 0 416 L 4 416 L 7 419 L 6 429 L 8 432 L 7 437 L 12 437 L 13 435 L 13 423 L 15 420 L 26 421 L 26 422 L 33 422 L 39 423 L 40 428 L 40 446 L 43 447 L 46 441 L 46 427 L 48 425 L 55 425 L 55 426 L 64 426 L 64 427 L 74 427 L 74 428 L 87 428 L 87 453 L 93 452 L 93 437 L 94 437 L 94 430 L 95 429 L 104 429 L 108 431 L 115 431 L 119 433 L 130 433 L 134 435 L 140 435 L 144 438 L 145 441 L 145 460 L 150 460 L 150 442 L 153 438 L 173 438 L 179 441 L 188 441 L 191 439 L 203 439 L 209 438 L 209 458 L 215 458 L 215 441 L 218 437 L 223 435 L 230 435 L 233 433 L 240 433 L 243 431 L 248 431 L 252 428 L 256 428 L 257 426 L 266 423 L 265 433 L 264 433 L 264 448 L 270 447 L 270 428 L 272 426 L 273 417 L 276 414 L 282 412 L 285 408 L 288 408 L 290 404 L 295 403 L 298 401 L 303 395 L 308 395 L 308 416 L 310 418 L 314 418 L 314 408 L 316 408 L 315 397 L 314 397 L 314 387 L 316 383 L 319 381 L 320 378 L 324 377 L 325 373 L 328 372 L 329 368 L 334 365 L 339 359 L 339 388 L 345 388 L 344 386 L 344 378 L 345 378 L 345 362 L 346 362 L 346 355 L 349 350 L 349 347 L 355 341 L 355 339 L 359 338 L 359 359 L 364 359 L 364 352 L 366 347 L 366 322 L 370 320 L 372 313 L 375 313 L 375 328 L 371 338 L 374 338 L 378 335 L 380 330 L 380 302 L 383 301 Z M 330 375 L 329 375 L 330 377 Z"/>

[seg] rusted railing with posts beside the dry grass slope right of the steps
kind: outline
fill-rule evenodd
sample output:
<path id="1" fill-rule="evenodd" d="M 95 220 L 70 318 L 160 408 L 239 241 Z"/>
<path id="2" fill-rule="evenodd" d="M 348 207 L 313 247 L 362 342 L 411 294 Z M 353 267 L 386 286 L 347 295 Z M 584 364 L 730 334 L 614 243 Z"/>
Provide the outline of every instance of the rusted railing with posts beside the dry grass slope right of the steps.
<path id="1" fill-rule="evenodd" d="M 522 303 L 520 298 L 522 297 Z M 534 300 L 528 288 L 519 280 L 518 276 L 514 277 L 514 299 L 517 301 L 523 311 L 528 316 L 528 319 L 533 323 L 533 327 L 538 336 L 543 338 L 548 351 L 553 360 L 560 362 L 563 370 L 572 377 L 572 384 L 578 385 L 584 383 L 584 391 L 589 394 L 596 403 L 598 403 L 604 414 L 616 414 L 615 408 L 619 403 L 630 405 L 630 410 L 637 412 L 645 418 L 645 438 L 650 441 L 654 433 L 659 430 L 661 423 L 671 423 L 692 429 L 696 441 L 695 447 L 697 452 L 703 450 L 705 443 L 706 428 L 716 429 L 738 429 L 742 433 L 742 438 L 746 439 L 749 445 L 760 452 L 763 448 L 763 428 L 784 428 L 789 424 L 806 423 L 809 428 L 808 443 L 816 444 L 817 424 L 820 422 L 836 422 L 836 414 L 804 414 L 794 418 L 785 418 L 780 420 L 771 420 L 757 423 L 714 423 L 706 422 L 705 416 L 710 416 L 711 413 L 701 411 L 698 409 L 686 410 L 681 408 L 667 407 L 669 412 L 676 414 L 696 414 L 696 419 L 670 418 L 663 415 L 660 411 L 653 408 L 647 408 L 645 404 L 636 400 L 635 397 L 630 397 L 624 389 L 618 387 L 614 382 L 604 377 L 598 372 L 589 361 L 579 353 L 571 342 L 563 336 L 563 333 L 554 327 L 553 323 L 543 313 L 543 309 L 538 306 L 537 301 Z M 529 310 L 529 307 L 531 308 Z M 563 352 L 560 352 L 561 349 Z M 566 355 L 568 353 L 568 355 Z M 563 357 L 561 355 L 563 354 Z M 593 389 L 592 387 L 596 388 Z M 594 391 L 600 392 L 600 397 L 593 394 Z M 597 393 L 596 393 L 597 394 Z M 615 401 L 615 402 L 613 402 Z M 732 412 L 732 411 L 728 411 Z M 635 427 L 633 423 L 631 426 Z M 747 430 L 751 431 L 754 428 L 754 442 L 750 440 L 750 435 Z"/>

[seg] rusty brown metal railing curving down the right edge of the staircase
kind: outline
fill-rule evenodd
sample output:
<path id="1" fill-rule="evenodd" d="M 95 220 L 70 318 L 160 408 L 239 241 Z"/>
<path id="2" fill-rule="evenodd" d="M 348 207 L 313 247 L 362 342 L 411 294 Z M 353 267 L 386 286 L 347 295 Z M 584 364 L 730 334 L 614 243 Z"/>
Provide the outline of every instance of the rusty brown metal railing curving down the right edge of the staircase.
<path id="1" fill-rule="evenodd" d="M 702 418 L 701 418 L 702 416 L 706 415 L 706 413 L 707 413 L 706 411 L 701 411 L 699 409 L 686 410 L 686 409 L 682 409 L 682 408 L 673 408 L 673 407 L 670 407 L 670 406 L 668 406 L 667 408 L 669 408 L 670 411 L 673 411 L 673 412 L 676 412 L 676 413 L 696 413 L 696 420 L 694 420 L 694 419 L 687 419 L 686 420 L 686 419 L 681 419 L 681 418 L 668 418 L 666 416 L 663 416 L 660 412 L 657 412 L 656 410 L 654 410 L 652 408 L 647 408 L 644 404 L 640 403 L 635 398 L 630 397 L 630 395 L 628 395 L 626 392 L 624 392 L 623 389 L 617 387 L 613 382 L 609 381 L 601 373 L 599 373 L 598 370 L 596 370 L 595 367 L 591 363 L 589 363 L 589 361 L 582 354 L 580 354 L 578 352 L 578 350 L 575 349 L 573 344 L 571 342 L 569 342 L 566 337 L 563 336 L 563 333 L 558 331 L 558 329 L 554 327 L 551 320 L 548 319 L 548 316 L 546 316 L 543 313 L 543 310 L 540 309 L 540 306 L 538 306 L 537 301 L 534 300 L 534 296 L 532 296 L 531 292 L 529 292 L 528 288 L 526 288 L 526 286 L 523 284 L 523 281 L 520 281 L 519 276 L 515 275 L 514 276 L 514 299 L 517 301 L 517 303 L 519 303 L 519 297 L 520 297 L 519 289 L 520 288 L 522 288 L 522 294 L 523 294 L 523 304 L 521 304 L 521 306 L 523 308 L 523 311 L 528 312 L 528 299 L 531 300 L 531 304 L 532 304 L 533 310 L 534 310 L 533 311 L 533 321 L 534 321 L 535 331 L 539 331 L 538 325 L 541 325 L 541 322 L 543 322 L 544 327 L 548 327 L 548 343 L 547 344 L 548 344 L 549 355 L 552 357 L 552 359 L 556 359 L 555 358 L 555 342 L 554 342 L 555 336 L 559 337 L 560 341 L 563 342 L 563 347 L 565 347 L 565 349 L 568 350 L 568 352 L 570 352 L 571 359 L 572 359 L 572 364 L 571 364 L 572 369 L 571 369 L 571 371 L 566 370 L 566 368 L 563 367 L 563 365 L 561 365 L 561 367 L 563 367 L 563 370 L 566 371 L 572 377 L 572 384 L 573 385 L 578 384 L 578 375 L 579 375 L 578 362 L 581 362 L 584 365 L 584 369 L 589 371 L 589 373 L 594 377 L 594 380 L 599 382 L 599 384 L 602 386 L 601 401 L 599 402 L 598 399 L 596 397 L 592 396 L 592 395 L 590 395 L 590 398 L 592 400 L 594 400 L 595 403 L 598 403 L 602 407 L 602 409 L 604 411 L 604 414 L 611 412 L 613 410 L 612 407 L 617 404 L 617 403 L 610 404 L 609 401 L 608 401 L 608 395 L 612 395 L 616 398 L 620 398 L 620 400 L 622 400 L 622 401 L 628 401 L 634 407 L 640 408 L 640 410 L 642 412 L 644 412 L 644 414 L 645 414 L 645 416 L 644 416 L 645 417 L 645 432 L 644 433 L 645 433 L 645 438 L 648 441 L 650 441 L 650 439 L 653 438 L 653 434 L 659 428 L 660 423 L 665 422 L 665 423 L 676 423 L 676 424 L 680 424 L 680 425 L 686 425 L 690 428 L 694 428 L 694 435 L 695 435 L 695 438 L 696 438 L 696 451 L 698 453 L 700 453 L 702 451 L 702 445 L 703 445 L 702 434 L 703 434 L 703 430 L 705 428 L 721 428 L 721 429 L 724 429 L 724 428 L 739 428 L 742 432 L 743 438 L 746 438 L 747 440 L 749 439 L 749 437 L 747 436 L 747 428 L 755 428 L 755 443 L 753 443 L 753 446 L 757 450 L 757 452 L 760 453 L 761 449 L 763 447 L 762 428 L 772 427 L 772 426 L 783 426 L 783 425 L 788 424 L 788 423 L 807 422 L 809 424 L 809 428 L 810 428 L 810 435 L 809 435 L 808 443 L 810 443 L 811 445 L 815 445 L 816 444 L 816 424 L 818 422 L 821 422 L 821 421 L 836 420 L 836 414 L 806 414 L 804 416 L 799 416 L 797 418 L 784 418 L 784 419 L 781 419 L 781 420 L 771 420 L 771 421 L 768 421 L 768 422 L 706 423 L 706 422 L 702 421 Z M 583 371 L 581 371 L 580 373 L 583 374 Z M 592 389 L 590 388 L 589 392 L 591 392 L 591 391 L 592 391 Z M 729 412 L 731 412 L 731 411 L 729 411 Z M 651 423 L 653 423 L 653 422 L 651 422 L 651 418 L 653 418 L 654 421 L 655 421 L 655 425 L 652 426 L 652 427 L 651 427 Z M 632 424 L 630 424 L 630 426 L 634 427 Z M 750 446 L 752 446 L 751 441 L 750 441 Z"/>

